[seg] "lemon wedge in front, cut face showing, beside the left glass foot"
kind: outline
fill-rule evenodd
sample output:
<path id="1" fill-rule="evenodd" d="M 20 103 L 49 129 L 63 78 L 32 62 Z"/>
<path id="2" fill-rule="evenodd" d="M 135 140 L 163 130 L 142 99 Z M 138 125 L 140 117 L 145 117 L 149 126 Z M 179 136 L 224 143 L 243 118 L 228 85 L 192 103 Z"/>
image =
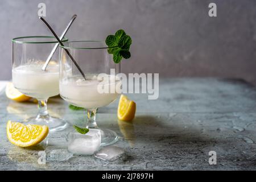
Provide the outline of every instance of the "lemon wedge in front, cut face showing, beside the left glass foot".
<path id="1" fill-rule="evenodd" d="M 6 133 L 9 141 L 19 147 L 30 147 L 40 142 L 49 133 L 46 125 L 23 125 L 19 122 L 8 121 Z"/>

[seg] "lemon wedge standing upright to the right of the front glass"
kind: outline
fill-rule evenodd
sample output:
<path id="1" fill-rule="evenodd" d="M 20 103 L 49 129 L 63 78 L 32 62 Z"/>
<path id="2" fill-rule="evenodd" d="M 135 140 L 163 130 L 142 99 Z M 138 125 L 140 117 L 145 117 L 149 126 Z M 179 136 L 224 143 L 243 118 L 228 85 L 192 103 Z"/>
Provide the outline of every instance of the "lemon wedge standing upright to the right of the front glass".
<path id="1" fill-rule="evenodd" d="M 130 101 L 125 95 L 121 95 L 118 109 L 117 117 L 121 121 L 131 121 L 133 120 L 136 112 L 136 104 L 134 101 Z"/>

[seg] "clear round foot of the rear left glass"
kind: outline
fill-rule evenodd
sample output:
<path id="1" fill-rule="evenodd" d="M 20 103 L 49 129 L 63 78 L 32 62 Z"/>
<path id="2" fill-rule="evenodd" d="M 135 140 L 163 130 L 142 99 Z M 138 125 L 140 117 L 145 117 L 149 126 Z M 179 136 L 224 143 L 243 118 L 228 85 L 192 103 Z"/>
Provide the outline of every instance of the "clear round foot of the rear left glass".
<path id="1" fill-rule="evenodd" d="M 49 131 L 61 131 L 64 130 L 68 123 L 63 119 L 56 117 L 47 117 L 47 118 L 28 118 L 23 121 L 24 124 L 28 125 L 47 125 L 49 127 Z"/>

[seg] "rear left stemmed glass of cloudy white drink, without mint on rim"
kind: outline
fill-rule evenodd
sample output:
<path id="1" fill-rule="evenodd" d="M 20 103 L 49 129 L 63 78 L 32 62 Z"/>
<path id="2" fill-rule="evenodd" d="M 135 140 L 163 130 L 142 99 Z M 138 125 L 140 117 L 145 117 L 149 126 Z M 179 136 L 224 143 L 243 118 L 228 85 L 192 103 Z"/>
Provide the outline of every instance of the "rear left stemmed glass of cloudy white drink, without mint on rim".
<path id="1" fill-rule="evenodd" d="M 67 38 L 62 39 L 67 42 Z M 56 51 L 46 71 L 44 63 L 57 40 L 52 36 L 26 36 L 14 38 L 12 57 L 13 84 L 19 92 L 38 100 L 39 113 L 25 123 L 47 125 L 49 131 L 59 131 L 68 125 L 63 119 L 51 117 L 47 111 L 49 97 L 59 94 L 59 51 Z"/>

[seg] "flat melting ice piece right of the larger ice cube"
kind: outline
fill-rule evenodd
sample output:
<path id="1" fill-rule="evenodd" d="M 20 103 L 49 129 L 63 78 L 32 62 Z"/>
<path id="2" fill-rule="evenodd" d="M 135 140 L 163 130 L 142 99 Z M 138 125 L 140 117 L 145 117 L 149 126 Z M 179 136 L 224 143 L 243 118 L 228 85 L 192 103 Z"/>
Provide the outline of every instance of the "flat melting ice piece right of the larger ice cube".
<path id="1" fill-rule="evenodd" d="M 98 151 L 94 156 L 96 158 L 100 158 L 103 160 L 107 160 L 108 162 L 112 162 L 114 160 L 117 160 L 121 156 L 124 156 L 125 150 L 123 150 L 120 147 L 116 146 L 106 146 L 104 148 L 101 148 L 100 151 Z"/>

